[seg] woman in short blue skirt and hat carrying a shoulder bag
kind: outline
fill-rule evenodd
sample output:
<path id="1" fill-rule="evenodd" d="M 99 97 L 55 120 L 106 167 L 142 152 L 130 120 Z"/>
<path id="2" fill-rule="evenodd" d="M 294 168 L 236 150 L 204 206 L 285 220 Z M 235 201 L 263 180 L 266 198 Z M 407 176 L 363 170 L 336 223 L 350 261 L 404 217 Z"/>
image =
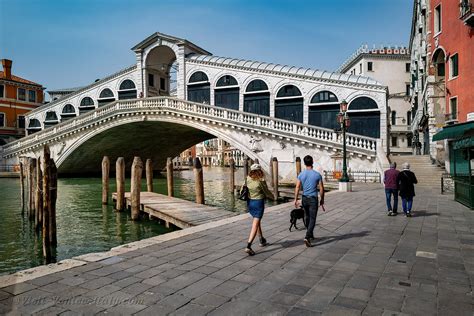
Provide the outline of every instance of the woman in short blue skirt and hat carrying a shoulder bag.
<path id="1" fill-rule="evenodd" d="M 261 220 L 263 217 L 263 210 L 265 208 L 265 198 L 275 200 L 272 192 L 268 190 L 267 183 L 263 176 L 262 167 L 259 164 L 250 166 L 250 172 L 247 177 L 247 187 L 249 189 L 250 200 L 247 202 L 249 214 L 252 216 L 252 230 L 248 239 L 245 252 L 249 256 L 253 256 L 255 251 L 252 250 L 252 242 L 258 234 L 260 238 L 260 246 L 266 246 L 267 241 L 262 234 Z"/>

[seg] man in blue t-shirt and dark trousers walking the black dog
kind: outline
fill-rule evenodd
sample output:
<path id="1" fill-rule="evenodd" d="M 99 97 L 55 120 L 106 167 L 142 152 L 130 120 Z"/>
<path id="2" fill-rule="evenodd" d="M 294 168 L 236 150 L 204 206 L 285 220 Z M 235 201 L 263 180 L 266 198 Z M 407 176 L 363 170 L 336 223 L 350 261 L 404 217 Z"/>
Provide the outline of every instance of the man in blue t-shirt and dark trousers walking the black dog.
<path id="1" fill-rule="evenodd" d="M 298 175 L 298 181 L 295 188 L 295 207 L 299 207 L 298 195 L 300 189 L 303 188 L 302 206 L 305 212 L 306 222 L 306 236 L 304 243 L 306 247 L 311 247 L 311 239 L 314 239 L 313 231 L 316 226 L 316 216 L 318 215 L 318 184 L 321 201 L 319 204 L 324 204 L 324 186 L 321 174 L 313 170 L 313 157 L 307 155 L 303 158 L 306 167 Z"/>

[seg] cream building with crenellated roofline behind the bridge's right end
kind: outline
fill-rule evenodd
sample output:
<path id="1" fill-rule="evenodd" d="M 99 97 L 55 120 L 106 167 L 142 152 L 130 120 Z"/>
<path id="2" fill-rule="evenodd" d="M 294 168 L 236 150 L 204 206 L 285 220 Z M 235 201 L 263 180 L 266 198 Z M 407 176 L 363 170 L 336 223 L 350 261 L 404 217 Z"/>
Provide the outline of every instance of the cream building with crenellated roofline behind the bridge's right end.
<path id="1" fill-rule="evenodd" d="M 338 69 L 339 72 L 371 77 L 388 86 L 388 145 L 390 154 L 412 153 L 410 98 L 410 52 L 407 47 L 369 48 L 362 45 Z M 366 128 L 373 128 L 367 121 Z M 351 129 L 349 128 L 349 131 Z"/>

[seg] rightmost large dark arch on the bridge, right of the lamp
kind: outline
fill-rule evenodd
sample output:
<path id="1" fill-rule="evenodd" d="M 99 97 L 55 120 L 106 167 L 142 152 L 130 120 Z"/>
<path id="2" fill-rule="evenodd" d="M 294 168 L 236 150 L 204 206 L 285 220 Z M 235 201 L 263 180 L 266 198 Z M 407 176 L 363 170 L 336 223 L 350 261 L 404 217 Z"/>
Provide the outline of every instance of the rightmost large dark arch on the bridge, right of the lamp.
<path id="1" fill-rule="evenodd" d="M 358 97 L 349 103 L 351 119 L 349 133 L 373 138 L 380 137 L 380 110 L 377 103 L 368 97 Z"/>

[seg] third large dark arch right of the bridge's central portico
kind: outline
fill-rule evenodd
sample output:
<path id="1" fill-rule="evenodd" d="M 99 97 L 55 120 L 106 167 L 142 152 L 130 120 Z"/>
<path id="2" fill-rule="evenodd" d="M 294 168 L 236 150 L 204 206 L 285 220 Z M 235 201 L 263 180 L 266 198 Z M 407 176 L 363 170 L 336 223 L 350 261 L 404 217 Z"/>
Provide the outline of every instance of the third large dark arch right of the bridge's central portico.
<path id="1" fill-rule="evenodd" d="M 260 79 L 251 81 L 244 94 L 244 111 L 270 116 L 270 91 Z"/>

